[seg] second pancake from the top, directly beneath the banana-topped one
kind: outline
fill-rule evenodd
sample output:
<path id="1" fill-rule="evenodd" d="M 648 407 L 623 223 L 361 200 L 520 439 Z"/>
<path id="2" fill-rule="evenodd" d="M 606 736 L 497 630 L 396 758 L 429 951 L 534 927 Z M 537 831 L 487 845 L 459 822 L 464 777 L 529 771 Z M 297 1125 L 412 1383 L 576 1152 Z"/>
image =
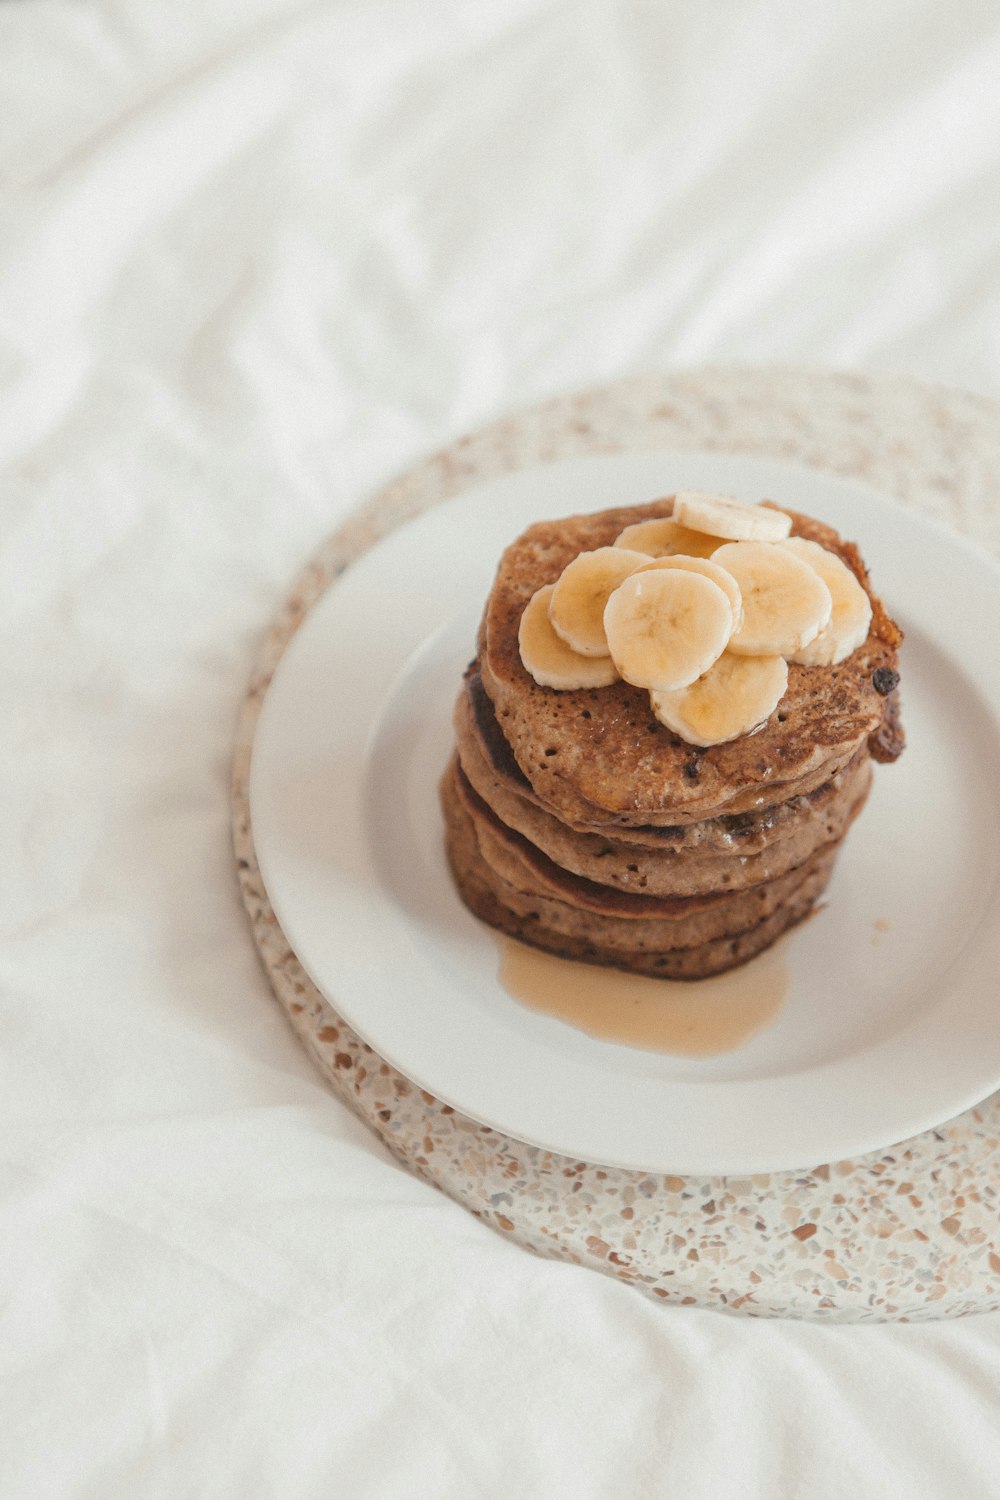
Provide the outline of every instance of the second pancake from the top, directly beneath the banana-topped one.
<path id="1" fill-rule="evenodd" d="M 544 810 L 505 741 L 505 753 L 501 748 L 478 674 L 459 694 L 454 728 L 462 771 L 502 824 L 574 874 L 648 896 L 694 896 L 772 880 L 840 838 L 871 784 L 862 748 L 817 790 L 765 813 L 675 828 L 580 831 Z"/>

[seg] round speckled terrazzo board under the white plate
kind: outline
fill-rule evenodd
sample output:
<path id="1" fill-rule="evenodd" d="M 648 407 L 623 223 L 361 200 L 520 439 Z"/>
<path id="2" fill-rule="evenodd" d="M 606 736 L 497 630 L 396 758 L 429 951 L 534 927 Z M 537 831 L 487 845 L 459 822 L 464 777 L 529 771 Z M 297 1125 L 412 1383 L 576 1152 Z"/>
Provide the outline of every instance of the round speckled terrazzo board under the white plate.
<path id="1" fill-rule="evenodd" d="M 1000 1095 L 888 1150 L 808 1172 L 679 1178 L 573 1161 L 459 1114 L 378 1058 L 310 982 L 268 903 L 247 783 L 270 678 L 333 580 L 402 522 L 541 462 L 717 452 L 864 480 L 1000 554 L 1000 408 L 910 381 L 708 369 L 561 398 L 432 456 L 357 512 L 274 620 L 240 722 L 232 824 L 274 993 L 336 1094 L 394 1155 L 528 1250 L 667 1302 L 841 1322 L 1000 1306 Z"/>

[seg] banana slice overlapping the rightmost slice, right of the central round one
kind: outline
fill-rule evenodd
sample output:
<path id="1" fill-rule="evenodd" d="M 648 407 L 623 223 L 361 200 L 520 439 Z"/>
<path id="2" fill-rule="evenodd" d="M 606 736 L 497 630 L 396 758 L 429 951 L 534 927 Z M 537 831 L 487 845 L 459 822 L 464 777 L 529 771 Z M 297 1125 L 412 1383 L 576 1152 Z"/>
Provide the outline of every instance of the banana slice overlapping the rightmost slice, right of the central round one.
<path id="1" fill-rule="evenodd" d="M 829 624 L 829 588 L 781 542 L 727 542 L 714 561 L 744 598 L 744 622 L 729 642 L 736 656 L 792 657 Z"/>

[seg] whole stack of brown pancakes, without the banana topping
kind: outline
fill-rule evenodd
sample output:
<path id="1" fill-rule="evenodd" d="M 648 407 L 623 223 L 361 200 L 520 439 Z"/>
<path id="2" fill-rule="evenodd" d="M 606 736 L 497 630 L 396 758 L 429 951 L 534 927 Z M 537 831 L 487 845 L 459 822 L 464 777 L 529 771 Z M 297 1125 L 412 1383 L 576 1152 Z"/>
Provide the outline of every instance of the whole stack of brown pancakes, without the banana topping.
<path id="1" fill-rule="evenodd" d="M 792 513 L 868 592 L 868 636 L 835 666 L 789 666 L 775 712 L 694 747 L 625 681 L 558 692 L 525 669 L 525 606 L 580 552 L 670 516 L 672 500 L 531 526 L 504 554 L 456 705 L 442 782 L 465 903 L 549 952 L 663 978 L 744 963 L 801 921 L 871 786 L 903 748 L 898 627 L 858 549 Z M 864 628 L 864 627 L 862 627 Z"/>

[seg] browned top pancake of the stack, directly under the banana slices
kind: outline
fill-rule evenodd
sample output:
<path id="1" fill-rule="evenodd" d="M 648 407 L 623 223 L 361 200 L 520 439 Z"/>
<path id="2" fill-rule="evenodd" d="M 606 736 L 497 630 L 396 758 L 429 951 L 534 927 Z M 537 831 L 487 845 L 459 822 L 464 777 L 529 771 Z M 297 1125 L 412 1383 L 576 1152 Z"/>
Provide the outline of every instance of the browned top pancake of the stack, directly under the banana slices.
<path id="1" fill-rule="evenodd" d="M 499 726 L 528 782 L 571 824 L 666 825 L 775 806 L 820 786 L 868 740 L 873 756 L 903 748 L 895 694 L 873 674 L 895 670 L 903 634 L 873 592 L 858 548 L 819 520 L 789 512 L 792 534 L 819 542 L 871 598 L 867 640 L 831 668 L 789 668 L 789 690 L 768 723 L 697 750 L 652 714 L 628 682 L 556 692 L 525 670 L 517 626 L 525 604 L 579 552 L 610 544 L 628 525 L 669 516 L 673 500 L 529 526 L 501 558 L 480 628 L 480 670 Z M 880 678 L 885 686 L 885 678 Z"/>

